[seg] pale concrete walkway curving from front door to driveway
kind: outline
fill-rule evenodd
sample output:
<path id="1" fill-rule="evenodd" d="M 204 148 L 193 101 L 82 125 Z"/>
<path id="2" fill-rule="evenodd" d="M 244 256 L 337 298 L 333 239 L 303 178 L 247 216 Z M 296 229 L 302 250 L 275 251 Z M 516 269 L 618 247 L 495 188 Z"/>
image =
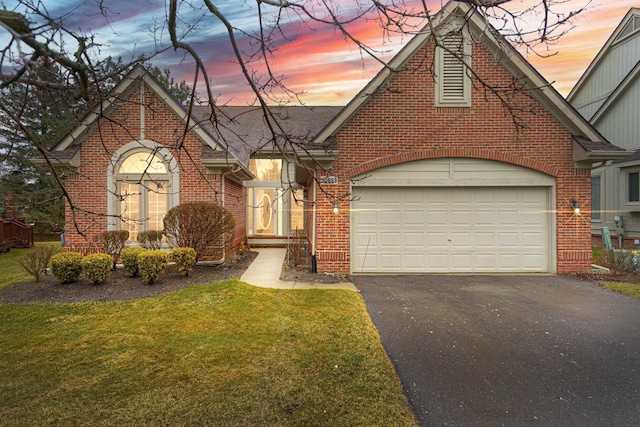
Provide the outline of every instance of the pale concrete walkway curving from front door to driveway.
<path id="1" fill-rule="evenodd" d="M 284 248 L 252 249 L 258 256 L 240 277 L 240 280 L 253 286 L 275 289 L 348 289 L 356 291 L 351 282 L 315 283 L 284 282 L 280 280 L 280 272 L 287 250 Z"/>

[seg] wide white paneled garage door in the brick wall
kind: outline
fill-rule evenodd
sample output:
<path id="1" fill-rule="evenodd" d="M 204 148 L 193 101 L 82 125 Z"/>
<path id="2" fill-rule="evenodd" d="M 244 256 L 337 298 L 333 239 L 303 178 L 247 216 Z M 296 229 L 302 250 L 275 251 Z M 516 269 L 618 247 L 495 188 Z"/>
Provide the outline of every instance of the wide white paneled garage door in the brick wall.
<path id="1" fill-rule="evenodd" d="M 550 271 L 547 187 L 363 187 L 354 196 L 354 272 Z"/>

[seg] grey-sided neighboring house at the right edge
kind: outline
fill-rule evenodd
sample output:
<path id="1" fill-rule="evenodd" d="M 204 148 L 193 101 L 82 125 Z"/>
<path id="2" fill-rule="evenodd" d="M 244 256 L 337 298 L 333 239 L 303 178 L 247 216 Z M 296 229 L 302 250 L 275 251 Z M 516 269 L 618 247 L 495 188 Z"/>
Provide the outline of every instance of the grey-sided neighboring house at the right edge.
<path id="1" fill-rule="evenodd" d="M 609 37 L 567 100 L 613 144 L 634 152 L 591 173 L 593 232 L 640 236 L 640 9 L 633 8 Z"/>

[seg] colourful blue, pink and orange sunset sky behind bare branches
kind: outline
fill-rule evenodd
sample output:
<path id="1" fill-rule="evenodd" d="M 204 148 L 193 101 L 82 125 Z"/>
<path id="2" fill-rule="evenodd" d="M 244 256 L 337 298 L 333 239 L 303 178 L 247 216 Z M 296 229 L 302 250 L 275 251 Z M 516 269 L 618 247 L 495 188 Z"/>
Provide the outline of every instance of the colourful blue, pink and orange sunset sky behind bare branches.
<path id="1" fill-rule="evenodd" d="M 534 0 L 514 0 L 513 5 L 518 7 L 527 1 Z M 122 56 L 127 60 L 134 54 L 153 50 L 157 40 L 164 45 L 168 43 L 163 26 L 168 1 L 109 0 L 104 2 L 110 16 L 108 20 L 96 8 L 96 0 L 42 0 L 42 3 L 47 5 L 50 15 L 62 16 L 67 28 L 95 34 L 95 40 L 102 44 L 103 56 Z M 255 2 L 223 0 L 214 3 L 235 26 L 248 31 L 257 28 Z M 353 3 L 341 1 L 342 11 L 348 13 Z M 437 10 L 442 2 L 428 0 L 427 3 Z M 569 0 L 564 9 L 580 8 L 586 3 L 588 0 Z M 7 9 L 12 9 L 14 4 L 14 1 L 0 0 L 0 6 Z M 589 9 L 574 18 L 575 28 L 551 46 L 550 53 L 557 54 L 548 58 L 523 54 L 561 94 L 567 95 L 626 12 L 634 6 L 639 6 L 637 0 L 592 0 Z M 202 18 L 202 14 L 195 11 L 180 10 L 184 22 L 201 19 L 187 40 L 206 63 L 218 103 L 240 105 L 249 102 L 246 84 L 234 63 L 222 26 L 213 18 Z M 155 28 L 155 38 L 152 28 Z M 284 30 L 290 41 L 279 43 L 273 67 L 276 74 L 286 76 L 289 87 L 305 92 L 301 99 L 309 105 L 346 104 L 379 70 L 375 61 L 363 60 L 359 50 L 347 45 L 331 28 L 314 26 L 309 29 L 295 16 L 290 16 Z M 408 40 L 394 36 L 389 42 L 372 22 L 360 21 L 351 25 L 350 30 L 368 44 L 388 51 L 387 58 Z M 169 68 L 176 80 L 192 83 L 193 63 L 190 59 L 170 52 L 153 62 L 161 68 Z"/>

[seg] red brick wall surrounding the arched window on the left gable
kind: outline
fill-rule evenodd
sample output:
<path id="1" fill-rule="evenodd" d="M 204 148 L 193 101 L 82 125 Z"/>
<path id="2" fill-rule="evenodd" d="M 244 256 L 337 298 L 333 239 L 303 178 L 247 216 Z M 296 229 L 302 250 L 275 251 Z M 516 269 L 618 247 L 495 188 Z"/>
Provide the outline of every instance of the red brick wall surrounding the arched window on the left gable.
<path id="1" fill-rule="evenodd" d="M 154 93 L 145 91 L 144 139 L 166 147 L 179 164 L 180 203 L 208 201 L 223 203 L 220 175 L 207 174 L 200 162 L 203 142 L 193 132 L 184 141 L 182 120 Z M 90 246 L 107 230 L 107 168 L 114 153 L 122 146 L 141 138 L 140 90 L 135 89 L 121 104 L 102 119 L 83 141 L 80 171 L 66 176 L 66 185 L 73 200 L 67 205 L 65 240 L 68 248 Z M 244 201 L 244 188 L 231 180 L 225 182 L 224 204 Z M 237 213 L 237 238 L 246 234 L 245 214 Z"/>

